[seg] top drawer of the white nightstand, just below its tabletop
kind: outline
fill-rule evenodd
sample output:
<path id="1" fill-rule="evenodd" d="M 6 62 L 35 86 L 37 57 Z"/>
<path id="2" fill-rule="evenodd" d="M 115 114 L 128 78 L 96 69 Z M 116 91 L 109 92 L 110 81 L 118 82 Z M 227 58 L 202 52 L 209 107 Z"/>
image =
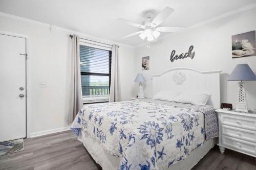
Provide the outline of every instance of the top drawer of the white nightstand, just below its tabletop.
<path id="1" fill-rule="evenodd" d="M 255 117 L 221 114 L 221 124 L 256 130 Z"/>

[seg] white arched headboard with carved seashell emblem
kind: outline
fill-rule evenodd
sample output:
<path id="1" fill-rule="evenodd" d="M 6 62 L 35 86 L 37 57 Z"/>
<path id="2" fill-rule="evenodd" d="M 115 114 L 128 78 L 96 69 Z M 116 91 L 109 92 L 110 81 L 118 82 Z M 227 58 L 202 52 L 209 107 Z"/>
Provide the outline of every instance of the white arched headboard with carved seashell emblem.
<path id="1" fill-rule="evenodd" d="M 202 91 L 211 94 L 208 105 L 220 108 L 220 72 L 193 68 L 173 68 L 152 76 L 153 96 L 160 90 Z"/>

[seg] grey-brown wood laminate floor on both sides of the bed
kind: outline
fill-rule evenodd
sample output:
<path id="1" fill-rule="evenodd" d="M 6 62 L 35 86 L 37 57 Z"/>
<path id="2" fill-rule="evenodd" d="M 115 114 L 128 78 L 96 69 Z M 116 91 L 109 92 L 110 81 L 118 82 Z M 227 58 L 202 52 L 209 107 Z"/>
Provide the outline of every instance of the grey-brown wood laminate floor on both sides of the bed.
<path id="1" fill-rule="evenodd" d="M 101 167 L 71 131 L 24 140 L 25 150 L 0 156 L 0 169 L 86 169 Z M 256 170 L 253 157 L 218 147 L 211 149 L 192 170 Z"/>

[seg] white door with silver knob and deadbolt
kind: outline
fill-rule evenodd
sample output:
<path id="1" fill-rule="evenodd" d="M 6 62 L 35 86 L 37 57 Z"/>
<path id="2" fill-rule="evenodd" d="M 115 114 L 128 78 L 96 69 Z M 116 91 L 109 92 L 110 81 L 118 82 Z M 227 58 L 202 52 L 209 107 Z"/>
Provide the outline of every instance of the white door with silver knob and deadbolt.
<path id="1" fill-rule="evenodd" d="M 26 39 L 0 34 L 0 142 L 26 137 Z"/>

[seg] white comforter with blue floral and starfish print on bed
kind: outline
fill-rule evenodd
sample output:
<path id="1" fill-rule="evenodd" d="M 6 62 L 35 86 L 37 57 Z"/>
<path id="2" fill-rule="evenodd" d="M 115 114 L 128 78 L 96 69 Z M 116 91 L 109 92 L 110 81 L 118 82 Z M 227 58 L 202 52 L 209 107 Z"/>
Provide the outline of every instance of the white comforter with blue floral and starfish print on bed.
<path id="1" fill-rule="evenodd" d="M 94 104 L 79 111 L 71 129 L 120 157 L 119 169 L 166 169 L 218 136 L 214 110 L 155 100 Z"/>

